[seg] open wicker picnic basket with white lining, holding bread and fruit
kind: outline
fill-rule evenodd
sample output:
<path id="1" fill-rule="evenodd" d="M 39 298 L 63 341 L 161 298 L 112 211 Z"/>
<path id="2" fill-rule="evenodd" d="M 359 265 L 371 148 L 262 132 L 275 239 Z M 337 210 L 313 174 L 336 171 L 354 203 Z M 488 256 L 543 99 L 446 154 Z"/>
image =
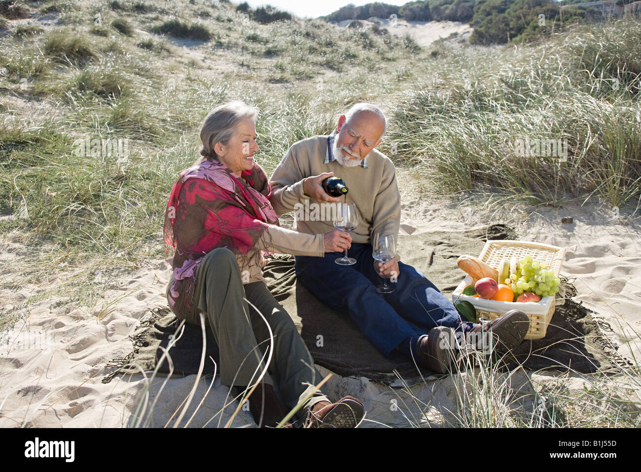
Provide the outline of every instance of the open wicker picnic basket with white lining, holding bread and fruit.
<path id="1" fill-rule="evenodd" d="M 554 270 L 554 274 L 558 277 L 563 259 L 565 259 L 565 248 L 529 241 L 487 241 L 479 259 L 494 268 L 498 268 L 503 258 L 510 259 L 516 256 L 521 259 L 528 255 Z M 556 295 L 554 297 L 544 297 L 540 302 L 499 302 L 463 295 L 463 288 L 470 283 L 472 283 L 472 277 L 467 275 L 465 280 L 454 290 L 452 295 L 454 302 L 457 300 L 469 301 L 476 308 L 477 318 L 486 320 L 498 318 L 504 315 L 506 311 L 522 310 L 529 317 L 529 329 L 525 338 L 540 339 L 545 337 L 547 326 L 554 315 Z"/>

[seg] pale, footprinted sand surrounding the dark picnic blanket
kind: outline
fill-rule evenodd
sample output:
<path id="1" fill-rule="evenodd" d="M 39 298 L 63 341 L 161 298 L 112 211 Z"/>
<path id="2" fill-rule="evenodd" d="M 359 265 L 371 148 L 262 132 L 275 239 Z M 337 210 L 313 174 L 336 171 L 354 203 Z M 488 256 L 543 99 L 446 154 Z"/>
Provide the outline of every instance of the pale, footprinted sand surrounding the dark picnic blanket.
<path id="1" fill-rule="evenodd" d="M 466 209 L 465 205 L 455 202 L 426 201 L 425 198 L 413 201 L 411 188 L 403 189 L 402 193 L 400 237 L 444 229 L 463 231 L 470 225 L 501 221 L 497 213 Z M 529 213 L 517 223 L 517 231 L 524 235 L 522 239 L 567 247 L 562 273 L 576 277 L 577 299 L 610 322 L 613 331 L 606 335 L 620 345 L 622 354 L 638 360 L 641 354 L 638 337 L 641 333 L 641 284 L 638 282 L 641 280 L 641 232 L 635 222 L 624 215 L 608 216 L 597 207 L 546 211 L 520 207 L 520 211 Z M 572 216 L 574 223 L 561 223 L 563 216 Z M 12 267 L 29 254 L 29 248 L 14 236 L 12 240 L 10 235 L 0 245 L 2 277 L 10 276 Z M 81 269 L 87 273 L 87 268 L 69 268 L 60 277 L 43 277 L 38 284 L 25 284 L 18 292 L 0 288 L 3 310 L 24 307 L 29 297 L 44 288 L 62 286 Z M 458 269 L 454 267 L 454 270 Z M 28 316 L 19 320 L 12 330 L 1 333 L 1 427 L 174 426 L 178 417 L 174 412 L 180 412 L 196 376 L 158 376 L 150 381 L 151 372 L 141 372 L 101 383 L 107 373 L 103 371 L 104 365 L 131 351 L 128 335 L 138 321 L 150 308 L 166 306 L 164 288 L 169 268 L 164 261 L 154 259 L 113 279 L 109 274 L 94 276 L 104 277 L 97 281 L 105 286 L 102 304 L 93 307 L 76 304 L 74 308 L 63 302 L 62 296 L 50 297 L 32 304 Z M 107 306 L 106 302 L 112 304 Z M 322 367 L 319 370 L 322 374 L 329 373 Z M 581 378 L 567 381 L 576 383 L 578 389 L 585 383 Z M 217 426 L 219 421 L 222 426 L 229 419 L 237 403 L 228 406 L 222 415 L 216 415 L 224 405 L 228 389 L 216 378 L 207 393 L 210 382 L 210 379 L 199 381 L 179 426 L 185 426 L 201 401 L 189 426 Z M 532 389 L 526 377 L 515 376 L 512 382 L 515 392 Z M 460 391 L 454 388 L 451 378 L 427 379 L 425 384 L 412 390 L 431 405 L 429 414 L 424 415 L 403 390 L 366 378 L 335 375 L 328 381 L 328 389 L 333 398 L 351 394 L 363 400 L 367 409 L 365 427 L 381 426 L 381 423 L 444 424 L 447 412 L 456 410 L 456 392 Z M 152 405 L 153 415 L 150 415 Z M 143 413 L 137 414 L 138 408 Z M 256 425 L 249 412 L 240 410 L 232 426 Z"/>

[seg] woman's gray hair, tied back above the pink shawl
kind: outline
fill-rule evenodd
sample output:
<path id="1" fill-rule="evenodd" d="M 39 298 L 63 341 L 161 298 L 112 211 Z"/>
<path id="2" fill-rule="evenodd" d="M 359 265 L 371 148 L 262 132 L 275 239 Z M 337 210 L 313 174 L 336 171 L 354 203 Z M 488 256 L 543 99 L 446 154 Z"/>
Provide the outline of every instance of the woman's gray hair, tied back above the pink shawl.
<path id="1" fill-rule="evenodd" d="M 242 101 L 229 101 L 223 103 L 209 112 L 201 126 L 201 155 L 208 161 L 218 160 L 218 155 L 213 146 L 219 141 L 227 145 L 229 139 L 236 133 L 238 123 L 246 118 L 256 119 L 258 109 Z"/>

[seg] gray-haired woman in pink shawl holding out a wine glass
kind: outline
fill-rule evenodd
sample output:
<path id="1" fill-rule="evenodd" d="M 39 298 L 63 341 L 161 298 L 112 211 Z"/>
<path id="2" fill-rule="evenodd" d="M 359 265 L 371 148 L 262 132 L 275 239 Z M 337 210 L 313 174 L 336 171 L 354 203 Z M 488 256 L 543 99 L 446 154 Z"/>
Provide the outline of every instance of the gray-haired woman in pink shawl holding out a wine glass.
<path id="1" fill-rule="evenodd" d="M 249 396 L 249 410 L 259 425 L 274 426 L 314 392 L 321 377 L 294 322 L 265 285 L 263 252 L 322 256 L 349 248 L 351 237 L 279 227 L 267 199 L 269 182 L 253 159 L 257 114 L 235 101 L 203 121 L 204 159 L 180 174 L 167 203 L 165 243 L 175 249 L 167 301 L 176 317 L 198 326 L 204 314 L 219 346 L 222 385 L 251 387 L 265 368 L 262 354 L 271 349 L 268 373 Z M 312 427 L 354 427 L 363 416 L 357 399 L 331 403 L 322 389 L 303 408 Z"/>

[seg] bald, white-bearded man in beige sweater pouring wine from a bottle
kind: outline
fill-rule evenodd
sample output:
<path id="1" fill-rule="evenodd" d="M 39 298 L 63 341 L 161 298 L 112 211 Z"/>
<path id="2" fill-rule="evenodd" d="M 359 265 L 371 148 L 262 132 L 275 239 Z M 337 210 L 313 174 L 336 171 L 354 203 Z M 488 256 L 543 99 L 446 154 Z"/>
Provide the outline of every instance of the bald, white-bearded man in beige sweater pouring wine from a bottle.
<path id="1" fill-rule="evenodd" d="M 339 202 L 322 188 L 322 181 L 337 175 L 349 188 L 347 201 L 356 205 L 358 227 L 347 243 L 354 265 L 337 265 L 338 252 L 324 257 L 296 257 L 296 274 L 321 301 L 346 311 L 381 353 L 394 349 L 435 372 L 447 372 L 456 357 L 454 331 L 476 344 L 484 333 L 499 338 L 499 351 L 522 342 L 528 317 L 513 310 L 483 326 L 463 321 L 453 304 L 424 275 L 395 259 L 374 268 L 372 245 L 375 234 L 397 238 L 401 197 L 394 164 L 374 149 L 381 143 L 387 121 L 378 107 L 354 105 L 340 116 L 331 135 L 313 136 L 292 145 L 271 177 L 269 197 L 276 213 L 300 208 L 306 200 L 320 204 Z M 313 202 L 307 202 L 307 207 Z M 318 204 L 318 203 L 317 203 Z M 298 213 L 298 212 L 297 212 Z M 305 213 L 296 218 L 297 231 L 318 234 L 333 229 L 327 213 Z M 310 218 L 310 215 L 320 215 Z M 301 216 L 300 214 L 298 216 Z M 329 216 L 331 218 L 331 216 Z M 395 281 L 391 293 L 378 293 L 379 275 Z M 460 347 L 460 346 L 459 346 Z M 479 345 L 475 345 L 479 347 Z"/>

